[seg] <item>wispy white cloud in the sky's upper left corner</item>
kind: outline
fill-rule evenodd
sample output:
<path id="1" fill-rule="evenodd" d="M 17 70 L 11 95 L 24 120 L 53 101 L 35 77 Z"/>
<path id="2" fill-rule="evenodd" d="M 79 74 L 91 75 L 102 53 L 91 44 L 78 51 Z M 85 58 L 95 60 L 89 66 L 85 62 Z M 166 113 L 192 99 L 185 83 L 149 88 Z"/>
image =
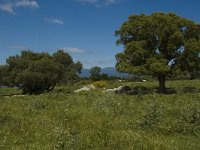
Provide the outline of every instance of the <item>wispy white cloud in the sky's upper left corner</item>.
<path id="1" fill-rule="evenodd" d="M 13 13 L 16 8 L 39 8 L 35 0 L 2 0 L 0 1 L 0 10 Z"/>

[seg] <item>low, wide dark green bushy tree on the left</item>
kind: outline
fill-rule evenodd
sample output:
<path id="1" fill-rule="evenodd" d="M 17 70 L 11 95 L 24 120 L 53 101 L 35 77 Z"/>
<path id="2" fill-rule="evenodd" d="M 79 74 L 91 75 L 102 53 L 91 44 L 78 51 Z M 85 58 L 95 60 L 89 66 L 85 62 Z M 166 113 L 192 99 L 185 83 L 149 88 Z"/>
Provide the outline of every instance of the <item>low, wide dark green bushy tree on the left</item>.
<path id="1" fill-rule="evenodd" d="M 63 50 L 54 54 L 22 51 L 11 56 L 7 65 L 0 67 L 4 85 L 19 86 L 23 93 L 39 94 L 51 91 L 58 82 L 71 80 L 82 69 L 80 62 L 74 63 Z"/>

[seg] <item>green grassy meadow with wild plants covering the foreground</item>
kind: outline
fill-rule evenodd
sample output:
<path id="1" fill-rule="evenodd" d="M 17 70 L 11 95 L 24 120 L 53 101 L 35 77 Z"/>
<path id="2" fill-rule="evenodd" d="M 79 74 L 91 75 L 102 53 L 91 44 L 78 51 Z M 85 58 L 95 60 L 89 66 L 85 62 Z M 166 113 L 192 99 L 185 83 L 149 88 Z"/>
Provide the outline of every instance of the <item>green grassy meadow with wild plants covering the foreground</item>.
<path id="1" fill-rule="evenodd" d="M 0 149 L 199 150 L 200 80 L 168 81 L 171 94 L 74 93 L 84 82 L 36 96 L 0 89 Z M 154 89 L 157 82 L 109 82 Z"/>

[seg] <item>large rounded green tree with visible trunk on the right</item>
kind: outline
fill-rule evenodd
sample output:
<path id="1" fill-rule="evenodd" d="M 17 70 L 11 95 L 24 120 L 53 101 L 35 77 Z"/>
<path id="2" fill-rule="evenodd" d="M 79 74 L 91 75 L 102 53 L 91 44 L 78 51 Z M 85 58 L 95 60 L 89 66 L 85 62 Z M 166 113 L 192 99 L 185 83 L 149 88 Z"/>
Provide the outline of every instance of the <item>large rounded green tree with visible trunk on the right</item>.
<path id="1" fill-rule="evenodd" d="M 192 74 L 200 70 L 200 24 L 174 13 L 131 15 L 116 31 L 119 72 L 156 75 L 159 91 L 175 68 Z"/>

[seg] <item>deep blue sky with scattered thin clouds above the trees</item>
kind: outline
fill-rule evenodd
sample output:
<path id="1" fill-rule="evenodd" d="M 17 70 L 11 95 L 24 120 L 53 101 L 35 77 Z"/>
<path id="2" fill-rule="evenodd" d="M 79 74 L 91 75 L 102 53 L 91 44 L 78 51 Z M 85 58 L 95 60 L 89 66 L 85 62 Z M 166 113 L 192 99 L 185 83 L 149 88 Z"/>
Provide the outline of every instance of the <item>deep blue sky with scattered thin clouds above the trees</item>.
<path id="1" fill-rule="evenodd" d="M 63 49 L 84 68 L 114 67 L 115 31 L 131 14 L 174 12 L 200 22 L 200 0 L 0 0 L 0 64 L 21 50 Z"/>

